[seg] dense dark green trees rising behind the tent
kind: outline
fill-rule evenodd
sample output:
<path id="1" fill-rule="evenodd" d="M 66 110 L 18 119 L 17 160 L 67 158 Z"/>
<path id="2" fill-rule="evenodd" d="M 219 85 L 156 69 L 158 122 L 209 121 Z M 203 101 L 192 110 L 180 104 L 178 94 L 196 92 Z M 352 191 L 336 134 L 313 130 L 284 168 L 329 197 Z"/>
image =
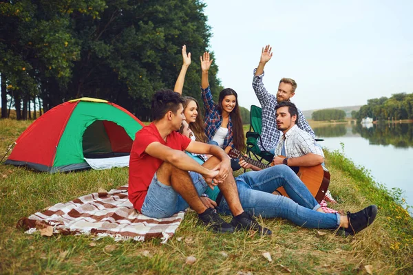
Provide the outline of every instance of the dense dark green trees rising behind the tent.
<path id="1" fill-rule="evenodd" d="M 198 0 L 21 0 L 0 3 L 1 117 L 45 112 L 88 96 L 150 120 L 153 93 L 173 89 L 187 45 L 185 96 L 200 100 L 211 28 Z M 215 59 L 215 58 L 214 58 Z M 214 98 L 222 87 L 209 71 Z M 247 110 L 248 111 L 248 110 Z M 249 114 L 248 114 L 249 119 Z"/>

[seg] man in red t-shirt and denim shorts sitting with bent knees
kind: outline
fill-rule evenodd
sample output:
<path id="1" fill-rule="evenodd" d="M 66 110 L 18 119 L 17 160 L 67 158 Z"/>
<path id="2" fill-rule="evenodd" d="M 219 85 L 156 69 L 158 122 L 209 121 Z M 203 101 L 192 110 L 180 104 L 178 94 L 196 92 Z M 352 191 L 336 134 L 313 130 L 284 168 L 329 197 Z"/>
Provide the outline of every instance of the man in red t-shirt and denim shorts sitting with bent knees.
<path id="1" fill-rule="evenodd" d="M 231 162 L 222 148 L 195 142 L 177 131 L 185 120 L 183 99 L 171 90 L 157 91 L 152 99 L 153 122 L 136 133 L 129 162 L 129 200 L 148 217 L 164 218 L 189 206 L 215 232 L 234 229 L 271 234 L 242 209 Z M 213 155 L 202 166 L 184 151 Z M 200 195 L 218 186 L 233 214 L 226 223 L 204 206 Z"/>

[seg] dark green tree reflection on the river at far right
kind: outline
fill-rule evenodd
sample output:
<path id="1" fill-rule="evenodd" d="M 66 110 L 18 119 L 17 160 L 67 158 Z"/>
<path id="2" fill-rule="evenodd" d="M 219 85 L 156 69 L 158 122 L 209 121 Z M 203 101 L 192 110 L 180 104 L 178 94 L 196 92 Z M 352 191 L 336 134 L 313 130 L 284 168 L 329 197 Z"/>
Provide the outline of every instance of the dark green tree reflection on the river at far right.
<path id="1" fill-rule="evenodd" d="M 352 133 L 359 133 L 369 140 L 370 144 L 389 145 L 396 148 L 413 147 L 413 124 L 373 124 L 365 128 L 361 124 L 352 127 Z"/>

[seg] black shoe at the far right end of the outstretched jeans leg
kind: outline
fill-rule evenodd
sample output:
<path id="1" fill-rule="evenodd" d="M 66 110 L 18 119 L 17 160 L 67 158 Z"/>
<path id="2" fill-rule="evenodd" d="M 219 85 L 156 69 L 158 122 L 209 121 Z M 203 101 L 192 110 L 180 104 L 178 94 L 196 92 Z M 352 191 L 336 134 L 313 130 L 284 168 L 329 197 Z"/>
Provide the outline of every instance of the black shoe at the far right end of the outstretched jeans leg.
<path id="1" fill-rule="evenodd" d="M 377 206 L 368 206 L 356 213 L 347 212 L 348 228 L 340 228 L 339 234 L 344 233 L 346 236 L 354 235 L 360 232 L 368 225 L 372 224 L 377 215 Z"/>

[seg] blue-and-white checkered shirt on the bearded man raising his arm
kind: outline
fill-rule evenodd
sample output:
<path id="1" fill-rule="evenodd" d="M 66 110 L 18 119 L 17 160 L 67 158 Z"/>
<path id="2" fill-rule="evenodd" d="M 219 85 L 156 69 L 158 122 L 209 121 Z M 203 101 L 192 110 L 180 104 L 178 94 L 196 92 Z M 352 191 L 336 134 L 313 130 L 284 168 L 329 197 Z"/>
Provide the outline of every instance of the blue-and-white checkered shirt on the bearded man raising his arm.
<path id="1" fill-rule="evenodd" d="M 280 135 L 282 135 L 282 131 L 277 129 L 277 122 L 275 120 L 275 107 L 278 105 L 277 96 L 268 94 L 268 91 L 265 89 L 264 83 L 262 83 L 264 72 L 260 76 L 255 76 L 255 71 L 257 69 L 254 69 L 253 89 L 262 107 L 262 144 L 258 142 L 258 146 L 260 146 L 261 150 L 269 151 L 271 148 L 275 148 Z M 308 132 L 313 139 L 315 138 L 313 129 L 308 125 L 306 118 L 299 110 L 296 123 L 300 129 Z"/>

